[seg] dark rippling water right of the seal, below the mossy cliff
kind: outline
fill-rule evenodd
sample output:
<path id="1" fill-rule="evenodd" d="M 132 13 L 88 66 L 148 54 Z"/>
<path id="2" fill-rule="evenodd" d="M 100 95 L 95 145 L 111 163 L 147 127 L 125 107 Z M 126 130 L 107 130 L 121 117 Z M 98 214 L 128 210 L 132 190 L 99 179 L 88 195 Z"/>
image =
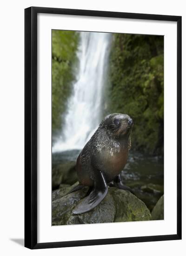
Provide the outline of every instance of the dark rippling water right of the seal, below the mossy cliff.
<path id="1" fill-rule="evenodd" d="M 134 194 L 152 210 L 164 194 L 163 159 L 138 152 L 130 153 L 122 178 L 123 182 L 133 189 Z"/>

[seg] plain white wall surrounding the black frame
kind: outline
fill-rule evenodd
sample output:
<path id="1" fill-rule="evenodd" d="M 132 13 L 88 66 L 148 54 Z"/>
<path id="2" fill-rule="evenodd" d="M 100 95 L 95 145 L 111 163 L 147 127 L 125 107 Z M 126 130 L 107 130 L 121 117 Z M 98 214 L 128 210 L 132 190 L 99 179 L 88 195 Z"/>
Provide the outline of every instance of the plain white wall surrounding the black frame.
<path id="1" fill-rule="evenodd" d="M 43 249 L 31 251 L 23 247 L 24 241 L 24 8 L 30 6 L 59 7 L 74 9 L 94 9 L 118 12 L 153 13 L 182 16 L 182 45 L 186 45 L 186 13 L 184 0 L 7 0 L 3 2 L 0 16 L 0 191 L 1 191 L 1 248 L 2 255 L 75 255 L 121 254 L 157 256 L 158 254 L 183 255 L 186 250 L 186 220 L 183 218 L 182 241 L 152 243 L 116 244 L 92 247 Z M 182 70 L 186 70 L 186 48 L 182 49 Z M 186 84 L 186 74 L 182 72 L 182 84 Z M 183 87 L 183 99 L 186 88 Z M 183 127 L 186 130 L 186 101 L 183 101 Z M 185 114 L 185 115 L 184 115 Z M 186 169 L 186 135 L 182 134 L 183 170 Z M 183 172 L 182 180 L 186 180 Z M 183 216 L 186 216 L 186 187 L 183 186 Z"/>

